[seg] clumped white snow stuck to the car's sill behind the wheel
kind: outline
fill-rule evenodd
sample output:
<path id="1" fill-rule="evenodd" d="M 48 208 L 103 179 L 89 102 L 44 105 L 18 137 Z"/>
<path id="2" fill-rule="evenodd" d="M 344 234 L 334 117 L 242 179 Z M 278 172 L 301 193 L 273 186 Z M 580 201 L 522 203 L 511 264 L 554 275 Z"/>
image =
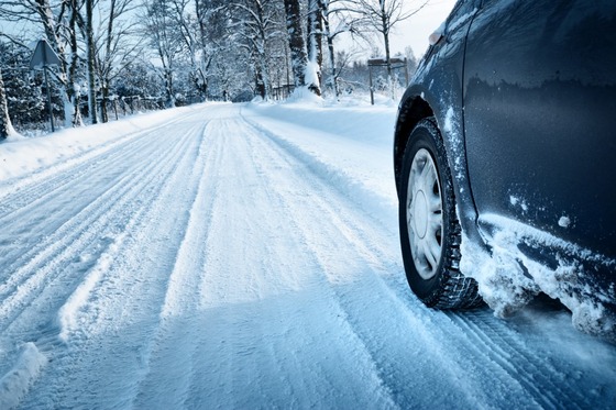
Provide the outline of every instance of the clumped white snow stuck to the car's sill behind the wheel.
<path id="1" fill-rule="evenodd" d="M 616 320 L 605 307 L 616 302 L 616 289 L 604 289 L 585 274 L 614 269 L 616 261 L 502 215 L 482 215 L 479 224 L 491 252 L 463 237 L 460 268 L 477 280 L 496 315 L 510 315 L 542 291 L 571 310 L 576 329 L 616 337 Z M 554 263 L 539 262 L 528 250 L 550 250 Z"/>

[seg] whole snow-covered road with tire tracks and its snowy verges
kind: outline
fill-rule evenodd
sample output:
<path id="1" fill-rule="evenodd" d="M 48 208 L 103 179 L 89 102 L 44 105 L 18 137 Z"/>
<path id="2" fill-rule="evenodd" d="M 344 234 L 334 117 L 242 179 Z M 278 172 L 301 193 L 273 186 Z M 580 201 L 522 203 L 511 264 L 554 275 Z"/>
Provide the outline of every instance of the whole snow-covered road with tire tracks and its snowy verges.
<path id="1" fill-rule="evenodd" d="M 0 144 L 1 409 L 616 406 L 559 306 L 410 293 L 394 108 L 169 112 Z"/>

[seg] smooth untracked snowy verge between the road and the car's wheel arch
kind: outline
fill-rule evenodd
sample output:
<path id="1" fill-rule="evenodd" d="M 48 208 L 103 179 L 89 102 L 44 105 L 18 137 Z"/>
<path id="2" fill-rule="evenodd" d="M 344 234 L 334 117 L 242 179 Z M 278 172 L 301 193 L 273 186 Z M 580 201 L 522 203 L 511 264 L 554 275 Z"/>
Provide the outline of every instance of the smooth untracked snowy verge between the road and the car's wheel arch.
<path id="1" fill-rule="evenodd" d="M 393 107 L 251 104 L 243 117 L 387 226 L 397 225 Z"/>

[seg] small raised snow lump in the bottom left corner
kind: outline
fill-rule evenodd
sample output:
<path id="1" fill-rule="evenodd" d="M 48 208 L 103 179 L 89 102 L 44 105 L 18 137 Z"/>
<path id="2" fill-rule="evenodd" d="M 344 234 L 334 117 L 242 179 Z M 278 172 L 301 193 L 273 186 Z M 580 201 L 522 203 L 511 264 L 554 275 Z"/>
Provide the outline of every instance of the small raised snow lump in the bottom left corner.
<path id="1" fill-rule="evenodd" d="M 0 379 L 0 409 L 16 407 L 46 363 L 34 343 L 26 343 L 14 367 Z"/>

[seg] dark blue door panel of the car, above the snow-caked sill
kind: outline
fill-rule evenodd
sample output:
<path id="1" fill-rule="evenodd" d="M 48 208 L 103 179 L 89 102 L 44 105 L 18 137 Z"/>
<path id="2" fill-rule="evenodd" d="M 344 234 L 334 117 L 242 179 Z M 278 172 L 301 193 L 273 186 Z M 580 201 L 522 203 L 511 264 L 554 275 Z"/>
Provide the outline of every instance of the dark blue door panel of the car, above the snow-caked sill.
<path id="1" fill-rule="evenodd" d="M 616 2 L 484 0 L 464 132 L 482 215 L 616 251 Z"/>

